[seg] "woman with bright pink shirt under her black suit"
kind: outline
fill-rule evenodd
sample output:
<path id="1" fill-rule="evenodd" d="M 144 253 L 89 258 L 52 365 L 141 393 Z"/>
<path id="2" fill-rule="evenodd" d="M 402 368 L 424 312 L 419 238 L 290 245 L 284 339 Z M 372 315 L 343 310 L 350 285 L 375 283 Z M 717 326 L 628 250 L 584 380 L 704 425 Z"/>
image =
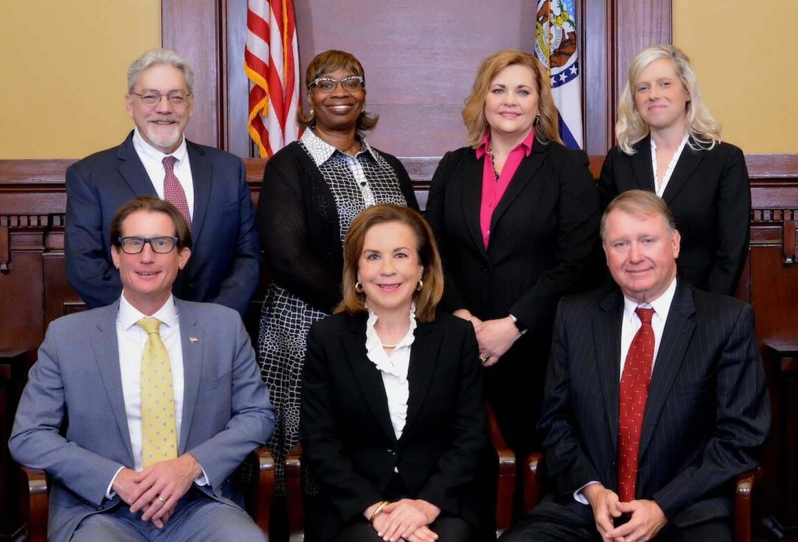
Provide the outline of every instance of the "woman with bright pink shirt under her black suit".
<path id="1" fill-rule="evenodd" d="M 530 54 L 486 58 L 463 120 L 470 145 L 444 155 L 426 209 L 440 304 L 476 329 L 487 398 L 523 458 L 536 447 L 557 302 L 583 285 L 598 249 L 599 196 L 587 155 L 560 141 L 546 69 Z"/>

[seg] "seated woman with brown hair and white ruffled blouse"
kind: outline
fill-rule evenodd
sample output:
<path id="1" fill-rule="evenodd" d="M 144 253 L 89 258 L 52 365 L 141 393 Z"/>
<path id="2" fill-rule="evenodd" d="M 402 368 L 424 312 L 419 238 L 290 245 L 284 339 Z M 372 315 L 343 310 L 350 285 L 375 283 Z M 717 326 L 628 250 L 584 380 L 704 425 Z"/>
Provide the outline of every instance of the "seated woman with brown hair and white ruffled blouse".
<path id="1" fill-rule="evenodd" d="M 485 540 L 479 351 L 471 324 L 436 313 L 443 273 L 424 218 L 391 204 L 358 214 L 342 288 L 310 328 L 302 377 L 300 440 L 320 489 L 309 540 Z"/>

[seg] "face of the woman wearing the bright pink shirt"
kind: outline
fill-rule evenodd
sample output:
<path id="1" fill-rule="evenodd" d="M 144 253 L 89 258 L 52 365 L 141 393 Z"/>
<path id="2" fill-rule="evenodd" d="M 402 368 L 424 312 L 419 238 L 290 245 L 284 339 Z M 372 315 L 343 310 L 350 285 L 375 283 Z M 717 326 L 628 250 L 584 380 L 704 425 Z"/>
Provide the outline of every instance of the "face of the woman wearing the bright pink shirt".
<path id="1" fill-rule="evenodd" d="M 535 74 L 525 65 L 513 64 L 496 74 L 485 96 L 485 119 L 491 132 L 525 137 L 538 114 Z"/>

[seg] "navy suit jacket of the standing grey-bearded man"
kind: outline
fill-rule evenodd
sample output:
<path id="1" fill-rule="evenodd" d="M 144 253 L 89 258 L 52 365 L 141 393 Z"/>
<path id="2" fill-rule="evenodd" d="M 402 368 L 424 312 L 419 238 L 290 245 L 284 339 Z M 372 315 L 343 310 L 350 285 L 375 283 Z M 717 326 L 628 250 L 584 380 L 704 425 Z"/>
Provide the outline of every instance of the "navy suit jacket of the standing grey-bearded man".
<path id="1" fill-rule="evenodd" d="M 158 195 L 132 136 L 66 171 L 66 277 L 88 308 L 111 304 L 122 291 L 111 260 L 113 215 L 129 199 Z M 261 258 L 247 171 L 229 152 L 188 140 L 186 146 L 194 183 L 192 257 L 172 291 L 243 315 L 258 286 Z"/>

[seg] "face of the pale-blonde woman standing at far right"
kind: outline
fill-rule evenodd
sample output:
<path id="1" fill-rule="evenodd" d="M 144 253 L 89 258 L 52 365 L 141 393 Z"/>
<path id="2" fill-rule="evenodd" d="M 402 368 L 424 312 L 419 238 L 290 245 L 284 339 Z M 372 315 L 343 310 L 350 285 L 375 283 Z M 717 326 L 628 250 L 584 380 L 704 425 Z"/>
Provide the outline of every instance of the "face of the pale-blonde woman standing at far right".
<path id="1" fill-rule="evenodd" d="M 642 69 L 634 84 L 634 104 L 650 128 L 684 126 L 689 95 L 674 61 L 660 58 Z"/>

